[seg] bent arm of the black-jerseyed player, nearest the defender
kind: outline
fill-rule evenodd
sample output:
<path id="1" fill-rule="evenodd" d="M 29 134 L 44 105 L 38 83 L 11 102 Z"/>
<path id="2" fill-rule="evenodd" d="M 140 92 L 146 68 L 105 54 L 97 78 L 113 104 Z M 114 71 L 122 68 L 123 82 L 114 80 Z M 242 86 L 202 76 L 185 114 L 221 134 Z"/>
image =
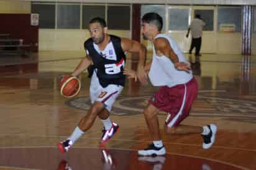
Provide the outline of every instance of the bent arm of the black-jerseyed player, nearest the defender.
<path id="1" fill-rule="evenodd" d="M 127 38 L 121 39 L 122 50 L 128 51 L 130 53 L 139 53 L 139 63 L 137 66 L 137 77 L 140 83 L 147 84 L 147 73 L 145 73 L 144 65 L 146 60 L 147 50 L 144 45 L 135 41 L 129 40 Z"/>

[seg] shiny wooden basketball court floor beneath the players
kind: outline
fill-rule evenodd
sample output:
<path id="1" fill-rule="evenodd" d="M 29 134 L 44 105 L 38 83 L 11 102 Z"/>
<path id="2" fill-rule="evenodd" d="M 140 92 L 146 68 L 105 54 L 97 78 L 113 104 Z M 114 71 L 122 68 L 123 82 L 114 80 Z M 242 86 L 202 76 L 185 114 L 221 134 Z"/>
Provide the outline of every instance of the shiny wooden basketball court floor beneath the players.
<path id="1" fill-rule="evenodd" d="M 150 143 L 142 110 L 156 90 L 127 80 L 114 104 L 111 119 L 120 130 L 106 148 L 99 148 L 101 122 L 75 143 L 67 154 L 57 142 L 68 137 L 89 108 L 89 79 L 80 75 L 80 94 L 60 96 L 62 74 L 78 65 L 83 53 L 40 52 L 30 57 L 0 58 L 0 170 L 3 169 L 123 169 L 226 170 L 256 169 L 256 56 L 188 56 L 199 84 L 186 125 L 218 127 L 216 143 L 203 150 L 199 135 L 165 135 L 165 156 L 138 157 Z M 131 67 L 135 61 L 127 59 Z"/>

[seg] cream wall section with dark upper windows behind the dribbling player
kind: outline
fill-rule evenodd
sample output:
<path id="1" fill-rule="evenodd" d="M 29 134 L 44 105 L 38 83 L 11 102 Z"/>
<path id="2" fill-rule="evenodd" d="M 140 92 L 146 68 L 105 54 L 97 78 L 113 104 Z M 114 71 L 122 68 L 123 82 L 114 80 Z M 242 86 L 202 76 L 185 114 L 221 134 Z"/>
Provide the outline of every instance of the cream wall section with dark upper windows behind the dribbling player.
<path id="1" fill-rule="evenodd" d="M 93 17 L 106 20 L 109 34 L 130 38 L 129 4 L 32 2 L 31 6 L 32 13 L 39 13 L 41 51 L 84 51 L 83 43 L 89 38 L 89 20 Z"/>

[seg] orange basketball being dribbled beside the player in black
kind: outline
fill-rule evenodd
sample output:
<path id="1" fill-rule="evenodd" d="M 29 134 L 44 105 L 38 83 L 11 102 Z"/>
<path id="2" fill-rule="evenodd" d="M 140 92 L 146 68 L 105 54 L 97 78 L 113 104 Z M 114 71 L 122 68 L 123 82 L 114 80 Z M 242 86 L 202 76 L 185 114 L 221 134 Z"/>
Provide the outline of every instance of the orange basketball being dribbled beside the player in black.
<path id="1" fill-rule="evenodd" d="M 64 97 L 74 97 L 80 91 L 80 81 L 74 76 L 64 76 L 60 80 L 60 94 Z"/>

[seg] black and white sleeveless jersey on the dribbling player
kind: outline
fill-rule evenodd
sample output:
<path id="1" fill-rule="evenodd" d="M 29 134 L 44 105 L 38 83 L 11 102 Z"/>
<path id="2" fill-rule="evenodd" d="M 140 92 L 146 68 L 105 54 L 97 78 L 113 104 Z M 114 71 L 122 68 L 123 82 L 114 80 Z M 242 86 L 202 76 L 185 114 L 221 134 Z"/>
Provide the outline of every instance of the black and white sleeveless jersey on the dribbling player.
<path id="1" fill-rule="evenodd" d="M 93 60 L 101 86 L 106 87 L 109 84 L 124 86 L 126 76 L 123 71 L 126 55 L 122 50 L 120 37 L 110 35 L 110 41 L 104 50 L 99 50 L 92 38 L 86 40 L 84 47 Z"/>

